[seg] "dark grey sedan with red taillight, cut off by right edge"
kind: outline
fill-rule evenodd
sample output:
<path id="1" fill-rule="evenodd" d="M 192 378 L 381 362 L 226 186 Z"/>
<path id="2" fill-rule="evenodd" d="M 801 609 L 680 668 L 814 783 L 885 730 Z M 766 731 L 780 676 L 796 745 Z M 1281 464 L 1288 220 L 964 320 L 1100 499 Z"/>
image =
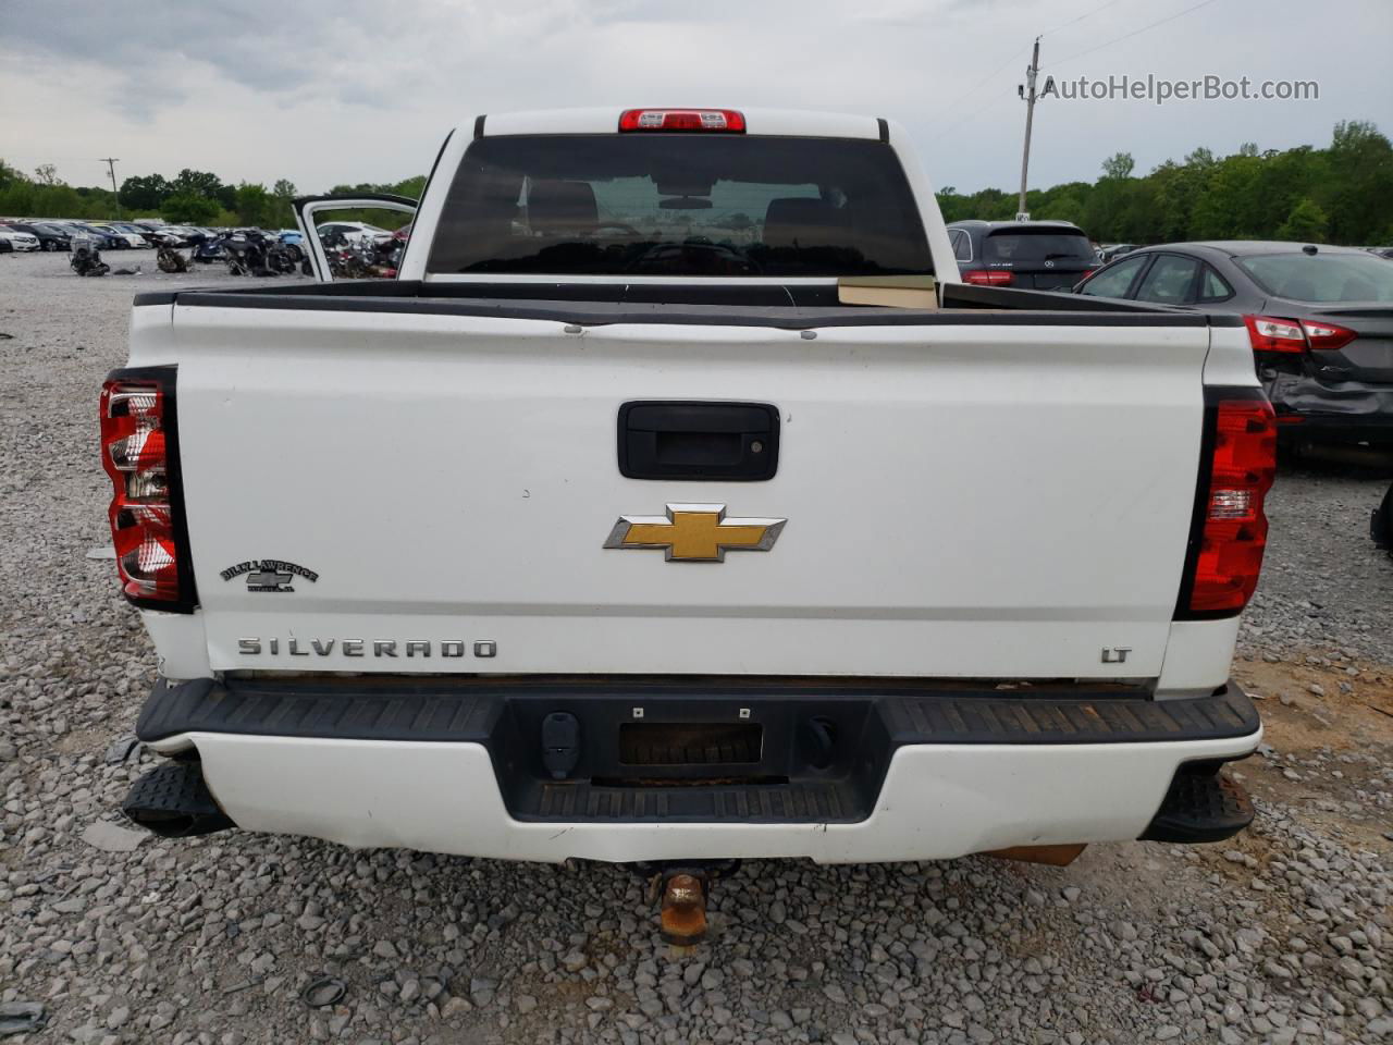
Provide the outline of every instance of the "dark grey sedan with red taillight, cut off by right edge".
<path id="1" fill-rule="evenodd" d="M 1105 265 L 1075 290 L 1238 314 L 1284 439 L 1393 444 L 1393 265 L 1368 251 L 1165 244 Z"/>

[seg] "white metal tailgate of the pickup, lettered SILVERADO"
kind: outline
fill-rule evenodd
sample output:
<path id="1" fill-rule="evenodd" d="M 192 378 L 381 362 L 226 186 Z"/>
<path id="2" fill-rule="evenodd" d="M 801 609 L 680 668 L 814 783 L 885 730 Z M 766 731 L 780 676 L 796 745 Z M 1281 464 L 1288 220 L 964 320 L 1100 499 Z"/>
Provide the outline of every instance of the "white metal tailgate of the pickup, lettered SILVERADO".
<path id="1" fill-rule="evenodd" d="M 173 319 L 215 670 L 1160 673 L 1202 325 Z M 630 400 L 773 404 L 777 474 L 624 478 Z M 720 563 L 605 548 L 618 517 L 691 503 L 787 522 Z M 266 560 L 291 578 L 249 584 Z"/>

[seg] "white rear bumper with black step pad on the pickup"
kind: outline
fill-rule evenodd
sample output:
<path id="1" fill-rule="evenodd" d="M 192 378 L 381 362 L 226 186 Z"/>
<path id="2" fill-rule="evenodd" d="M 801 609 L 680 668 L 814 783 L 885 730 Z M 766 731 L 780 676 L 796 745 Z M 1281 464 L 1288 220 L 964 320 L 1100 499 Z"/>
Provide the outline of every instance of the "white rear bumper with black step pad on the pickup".
<path id="1" fill-rule="evenodd" d="M 564 779 L 540 744 L 540 722 L 559 709 L 581 736 Z M 758 754 L 740 755 L 758 761 L 698 752 L 634 765 L 618 736 L 635 709 L 659 729 L 758 727 Z M 812 719 L 837 737 L 830 755 L 809 751 Z M 251 830 L 552 862 L 861 862 L 1155 837 L 1177 771 L 1251 754 L 1261 725 L 1233 686 L 1155 702 L 1124 691 L 347 679 L 162 684 L 138 733 L 164 752 L 195 748 L 217 805 Z"/>

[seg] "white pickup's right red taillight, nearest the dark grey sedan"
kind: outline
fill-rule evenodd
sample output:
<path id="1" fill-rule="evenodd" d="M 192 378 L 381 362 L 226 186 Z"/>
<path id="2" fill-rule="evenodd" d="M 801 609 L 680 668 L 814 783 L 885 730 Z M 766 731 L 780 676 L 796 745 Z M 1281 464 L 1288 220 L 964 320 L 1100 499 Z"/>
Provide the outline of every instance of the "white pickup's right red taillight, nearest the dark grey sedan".
<path id="1" fill-rule="evenodd" d="M 1231 617 L 1258 587 L 1268 543 L 1263 500 L 1277 464 L 1272 404 L 1255 389 L 1206 392 L 1205 467 L 1191 521 L 1177 619 Z"/>

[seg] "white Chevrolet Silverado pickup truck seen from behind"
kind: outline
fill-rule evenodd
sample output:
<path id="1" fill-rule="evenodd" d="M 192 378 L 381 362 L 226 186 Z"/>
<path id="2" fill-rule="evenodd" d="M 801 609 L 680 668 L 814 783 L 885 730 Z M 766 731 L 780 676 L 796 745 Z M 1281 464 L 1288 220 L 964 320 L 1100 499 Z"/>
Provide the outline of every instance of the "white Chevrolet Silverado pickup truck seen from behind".
<path id="1" fill-rule="evenodd" d="M 302 226 L 355 205 L 415 208 Z M 894 123 L 479 117 L 397 279 L 141 294 L 100 414 L 163 835 L 669 867 L 1252 816 L 1241 319 L 960 283 Z"/>

